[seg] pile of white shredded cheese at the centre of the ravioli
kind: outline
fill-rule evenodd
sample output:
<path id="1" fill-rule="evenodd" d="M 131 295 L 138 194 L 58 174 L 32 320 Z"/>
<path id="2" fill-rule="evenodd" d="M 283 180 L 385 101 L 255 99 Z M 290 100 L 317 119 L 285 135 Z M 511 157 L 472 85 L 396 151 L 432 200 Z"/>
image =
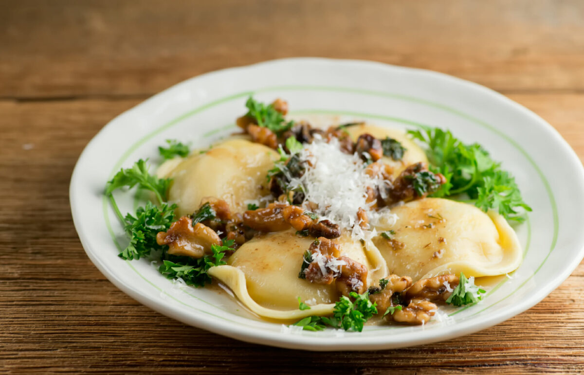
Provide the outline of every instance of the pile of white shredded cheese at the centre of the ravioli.
<path id="1" fill-rule="evenodd" d="M 304 163 L 306 169 L 300 178 L 288 174 L 290 188 L 303 190 L 305 209 L 310 210 L 308 202 L 317 204 L 318 209 L 314 211 L 320 220 L 330 220 L 350 231 L 353 239 L 364 241 L 374 237 L 376 230 L 364 230 L 359 226 L 357 211 L 360 208 L 366 211 L 370 224 L 376 225 L 382 220 L 390 225 L 395 223 L 395 214 L 388 209 L 371 210 L 373 203 L 366 202 L 368 186 L 380 187 L 384 192 L 384 186 L 391 186 L 391 183 L 381 176 L 367 175 L 367 165 L 359 155 L 342 152 L 337 138 L 327 142 L 316 134 L 314 141 L 304 145 L 298 156 L 307 161 Z"/>

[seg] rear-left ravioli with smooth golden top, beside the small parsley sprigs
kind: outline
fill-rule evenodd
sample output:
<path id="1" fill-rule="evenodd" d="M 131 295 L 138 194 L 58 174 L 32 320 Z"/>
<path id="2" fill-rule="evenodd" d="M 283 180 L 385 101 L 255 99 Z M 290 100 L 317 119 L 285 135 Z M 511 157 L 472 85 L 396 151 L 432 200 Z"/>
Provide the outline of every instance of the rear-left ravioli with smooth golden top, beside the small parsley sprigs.
<path id="1" fill-rule="evenodd" d="M 277 158 L 265 145 L 243 138 L 224 141 L 184 159 L 168 173 L 173 179 L 169 201 L 178 205 L 179 216 L 199 209 L 205 197 L 225 200 L 232 212 L 245 211 L 246 200 L 269 195 L 266 175 Z"/>

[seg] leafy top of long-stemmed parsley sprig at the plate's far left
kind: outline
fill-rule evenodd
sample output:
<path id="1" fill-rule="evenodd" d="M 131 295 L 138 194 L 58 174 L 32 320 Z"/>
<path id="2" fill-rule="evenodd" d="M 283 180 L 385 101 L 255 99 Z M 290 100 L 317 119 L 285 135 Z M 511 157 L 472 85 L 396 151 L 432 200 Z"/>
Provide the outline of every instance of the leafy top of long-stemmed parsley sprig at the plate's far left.
<path id="1" fill-rule="evenodd" d="M 166 191 L 171 183 L 171 179 L 158 178 L 148 173 L 148 166 L 145 160 L 138 160 L 132 168 L 120 169 L 113 176 L 113 179 L 106 184 L 106 195 L 110 195 L 114 190 L 127 186 L 133 188 L 138 185 L 143 189 L 150 190 L 158 198 L 158 202 L 166 201 Z"/>

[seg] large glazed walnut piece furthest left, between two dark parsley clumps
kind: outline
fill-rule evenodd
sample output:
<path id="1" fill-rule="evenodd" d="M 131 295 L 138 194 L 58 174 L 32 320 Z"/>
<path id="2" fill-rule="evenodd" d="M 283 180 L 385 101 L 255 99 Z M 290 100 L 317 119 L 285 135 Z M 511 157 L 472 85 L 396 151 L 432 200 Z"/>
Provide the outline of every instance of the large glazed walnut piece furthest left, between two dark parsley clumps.
<path id="1" fill-rule="evenodd" d="M 168 254 L 201 258 L 211 254 L 211 245 L 221 245 L 221 238 L 211 228 L 183 216 L 172 223 L 166 232 L 156 235 L 158 245 L 168 245 Z"/>

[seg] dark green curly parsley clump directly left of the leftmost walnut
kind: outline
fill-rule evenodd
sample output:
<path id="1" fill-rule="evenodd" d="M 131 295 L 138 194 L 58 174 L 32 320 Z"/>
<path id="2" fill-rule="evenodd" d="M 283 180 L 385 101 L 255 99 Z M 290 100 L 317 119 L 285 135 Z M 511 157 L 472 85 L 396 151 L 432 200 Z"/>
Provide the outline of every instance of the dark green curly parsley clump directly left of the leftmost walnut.
<path id="1" fill-rule="evenodd" d="M 130 235 L 130 243 L 120 252 L 123 259 L 140 259 L 159 249 L 156 242 L 158 232 L 167 231 L 175 218 L 176 204 L 162 204 L 160 208 L 147 202 L 145 207 L 138 207 L 136 215 L 127 214 L 124 229 Z"/>

